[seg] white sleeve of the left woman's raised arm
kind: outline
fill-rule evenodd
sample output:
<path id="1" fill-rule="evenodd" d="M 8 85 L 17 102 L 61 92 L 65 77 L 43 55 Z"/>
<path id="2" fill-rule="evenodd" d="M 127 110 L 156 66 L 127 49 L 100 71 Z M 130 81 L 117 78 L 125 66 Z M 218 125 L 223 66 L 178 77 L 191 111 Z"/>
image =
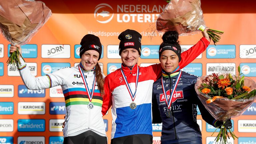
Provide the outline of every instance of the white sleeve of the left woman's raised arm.
<path id="1" fill-rule="evenodd" d="M 22 58 L 20 58 L 20 62 L 21 64 L 17 67 L 23 83 L 28 89 L 40 90 L 63 84 L 63 77 L 65 75 L 63 71 L 57 70 L 56 72 L 50 73 L 45 76 L 35 77 L 31 75 L 29 68 L 27 67 L 26 63 L 23 61 Z"/>

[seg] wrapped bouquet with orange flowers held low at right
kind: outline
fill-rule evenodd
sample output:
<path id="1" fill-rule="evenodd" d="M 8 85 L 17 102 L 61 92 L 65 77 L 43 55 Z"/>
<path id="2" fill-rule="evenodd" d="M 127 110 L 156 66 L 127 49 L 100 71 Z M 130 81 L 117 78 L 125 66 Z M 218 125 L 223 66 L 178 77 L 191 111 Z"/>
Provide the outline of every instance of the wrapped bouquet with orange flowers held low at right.
<path id="1" fill-rule="evenodd" d="M 256 99 L 256 84 L 252 79 L 241 77 L 240 66 L 238 76 L 230 73 L 202 76 L 197 79 L 195 90 L 200 101 L 211 115 L 222 122 L 240 116 Z M 233 139 L 231 129 L 219 127 L 216 141 L 227 142 L 228 131 Z M 237 138 L 237 137 L 236 137 Z"/>

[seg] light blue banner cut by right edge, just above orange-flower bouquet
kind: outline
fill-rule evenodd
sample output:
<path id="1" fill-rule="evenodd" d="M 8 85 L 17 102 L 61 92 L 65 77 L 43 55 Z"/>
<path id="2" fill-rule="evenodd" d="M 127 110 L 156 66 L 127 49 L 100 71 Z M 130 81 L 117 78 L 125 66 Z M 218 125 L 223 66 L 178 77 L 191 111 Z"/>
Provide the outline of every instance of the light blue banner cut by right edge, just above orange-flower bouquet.
<path id="1" fill-rule="evenodd" d="M 244 76 L 256 76 L 256 63 L 240 63 L 240 68 Z"/>

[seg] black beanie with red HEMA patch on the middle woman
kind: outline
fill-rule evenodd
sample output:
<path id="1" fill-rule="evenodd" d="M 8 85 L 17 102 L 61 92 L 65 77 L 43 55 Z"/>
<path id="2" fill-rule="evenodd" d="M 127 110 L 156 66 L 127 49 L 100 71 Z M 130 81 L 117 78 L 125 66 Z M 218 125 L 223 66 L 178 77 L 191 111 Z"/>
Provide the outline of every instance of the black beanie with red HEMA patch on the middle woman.
<path id="1" fill-rule="evenodd" d="M 121 52 L 127 48 L 134 48 L 139 52 L 139 55 L 141 55 L 141 37 L 141 34 L 135 30 L 127 29 L 123 31 L 118 36 L 118 39 L 120 40 L 119 55 L 121 55 Z"/>

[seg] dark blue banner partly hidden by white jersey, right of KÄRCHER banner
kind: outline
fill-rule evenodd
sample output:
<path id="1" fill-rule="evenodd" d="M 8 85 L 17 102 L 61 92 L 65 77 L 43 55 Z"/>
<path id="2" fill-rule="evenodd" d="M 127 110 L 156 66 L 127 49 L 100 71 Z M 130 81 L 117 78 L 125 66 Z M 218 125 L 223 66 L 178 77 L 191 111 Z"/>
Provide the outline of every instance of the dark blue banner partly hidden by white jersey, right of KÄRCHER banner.
<path id="1" fill-rule="evenodd" d="M 50 114 L 66 114 L 65 102 L 50 102 Z"/>

